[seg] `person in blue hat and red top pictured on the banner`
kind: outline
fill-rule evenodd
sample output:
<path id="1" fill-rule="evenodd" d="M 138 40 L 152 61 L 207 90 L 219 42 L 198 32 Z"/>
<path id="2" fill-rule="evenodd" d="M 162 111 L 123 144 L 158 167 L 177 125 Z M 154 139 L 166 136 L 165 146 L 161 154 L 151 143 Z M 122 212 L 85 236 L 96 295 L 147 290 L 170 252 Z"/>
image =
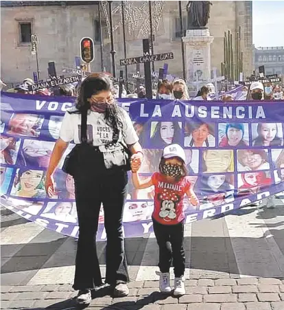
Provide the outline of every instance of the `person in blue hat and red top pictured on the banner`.
<path id="1" fill-rule="evenodd" d="M 244 141 L 244 124 L 226 124 L 225 135 L 221 138 L 219 146 L 248 146 Z"/>

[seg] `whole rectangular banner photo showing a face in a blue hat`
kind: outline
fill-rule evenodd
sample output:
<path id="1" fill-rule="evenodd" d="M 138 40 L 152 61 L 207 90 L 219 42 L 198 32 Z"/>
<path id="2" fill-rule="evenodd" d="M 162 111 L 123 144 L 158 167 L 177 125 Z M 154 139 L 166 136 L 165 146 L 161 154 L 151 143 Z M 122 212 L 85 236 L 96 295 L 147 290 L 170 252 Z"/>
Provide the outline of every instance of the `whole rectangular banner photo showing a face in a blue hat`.
<path id="1" fill-rule="evenodd" d="M 248 146 L 248 124 L 219 124 L 219 146 Z"/>

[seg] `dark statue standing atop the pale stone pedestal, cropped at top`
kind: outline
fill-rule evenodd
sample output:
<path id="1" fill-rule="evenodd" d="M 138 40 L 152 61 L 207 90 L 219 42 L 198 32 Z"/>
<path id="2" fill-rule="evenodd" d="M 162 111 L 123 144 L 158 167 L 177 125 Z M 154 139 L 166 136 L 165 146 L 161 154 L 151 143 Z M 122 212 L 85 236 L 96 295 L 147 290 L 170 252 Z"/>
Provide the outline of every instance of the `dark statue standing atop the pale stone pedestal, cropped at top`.
<path id="1" fill-rule="evenodd" d="M 211 5 L 211 1 L 189 1 L 187 3 L 187 29 L 206 28 Z"/>

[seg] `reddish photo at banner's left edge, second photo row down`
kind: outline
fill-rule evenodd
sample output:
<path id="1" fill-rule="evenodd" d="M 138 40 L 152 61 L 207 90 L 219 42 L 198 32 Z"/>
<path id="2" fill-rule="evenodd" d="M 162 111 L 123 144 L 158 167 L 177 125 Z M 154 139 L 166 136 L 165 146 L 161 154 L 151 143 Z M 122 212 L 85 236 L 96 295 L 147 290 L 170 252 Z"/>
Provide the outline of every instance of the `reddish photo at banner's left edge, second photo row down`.
<path id="1" fill-rule="evenodd" d="M 0 164 L 14 165 L 19 152 L 21 139 L 1 135 L 0 137 Z"/>

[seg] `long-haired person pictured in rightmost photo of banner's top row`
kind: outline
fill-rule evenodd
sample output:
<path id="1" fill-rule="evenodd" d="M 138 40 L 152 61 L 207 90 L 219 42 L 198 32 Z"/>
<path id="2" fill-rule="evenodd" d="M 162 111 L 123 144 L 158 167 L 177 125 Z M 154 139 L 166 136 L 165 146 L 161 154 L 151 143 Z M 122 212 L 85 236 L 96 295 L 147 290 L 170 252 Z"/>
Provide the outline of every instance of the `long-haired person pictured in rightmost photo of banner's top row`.
<path id="1" fill-rule="evenodd" d="M 280 124 L 281 125 L 281 124 Z M 276 123 L 257 124 L 258 136 L 252 142 L 254 146 L 282 146 L 283 138 L 279 137 Z"/>

